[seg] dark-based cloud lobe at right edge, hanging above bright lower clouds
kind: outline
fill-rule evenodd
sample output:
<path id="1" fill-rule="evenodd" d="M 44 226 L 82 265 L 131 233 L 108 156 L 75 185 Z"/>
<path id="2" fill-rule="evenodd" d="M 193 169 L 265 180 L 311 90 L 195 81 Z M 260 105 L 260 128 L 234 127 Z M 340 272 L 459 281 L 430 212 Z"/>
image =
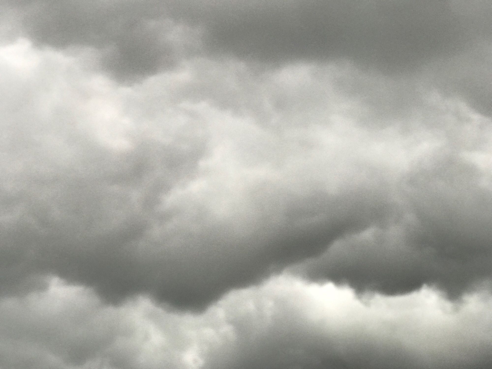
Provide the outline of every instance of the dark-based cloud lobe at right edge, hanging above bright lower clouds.
<path id="1" fill-rule="evenodd" d="M 400 294 L 427 284 L 458 298 L 492 279 L 492 192 L 479 180 L 458 158 L 438 160 L 412 174 L 399 220 L 340 239 L 294 270 L 359 291 Z"/>

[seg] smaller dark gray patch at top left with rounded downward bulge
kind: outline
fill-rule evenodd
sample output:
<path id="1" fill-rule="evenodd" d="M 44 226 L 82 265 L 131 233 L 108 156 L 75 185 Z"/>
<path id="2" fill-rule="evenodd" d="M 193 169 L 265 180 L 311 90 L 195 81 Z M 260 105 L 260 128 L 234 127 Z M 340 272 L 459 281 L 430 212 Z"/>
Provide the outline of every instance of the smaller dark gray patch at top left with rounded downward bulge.
<path id="1" fill-rule="evenodd" d="M 40 45 L 89 47 L 113 77 L 135 81 L 175 65 L 180 49 L 162 5 L 154 1 L 25 1 L 11 3 L 24 33 Z M 185 43 L 185 41 L 184 41 Z"/>

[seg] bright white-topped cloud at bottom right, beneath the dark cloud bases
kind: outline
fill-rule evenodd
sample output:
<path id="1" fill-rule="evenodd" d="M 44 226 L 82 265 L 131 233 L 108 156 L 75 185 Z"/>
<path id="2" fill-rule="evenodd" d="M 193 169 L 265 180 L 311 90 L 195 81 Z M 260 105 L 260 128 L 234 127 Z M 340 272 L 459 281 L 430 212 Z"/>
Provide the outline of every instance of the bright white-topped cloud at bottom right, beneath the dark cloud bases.
<path id="1" fill-rule="evenodd" d="M 239 301 L 246 307 L 231 304 L 232 296 L 224 302 L 238 337 L 225 343 L 220 353 L 213 352 L 205 368 L 486 368 L 490 364 L 490 337 L 478 326 L 464 328 L 473 311 L 480 315 L 472 319 L 477 324 L 488 315 L 485 306 L 468 308 L 473 299 L 452 307 L 422 290 L 395 299 L 374 296 L 362 303 L 347 289 L 330 285 L 304 289 L 299 281 L 276 282 L 265 295 L 244 293 Z M 480 338 L 467 342 L 475 333 Z"/>

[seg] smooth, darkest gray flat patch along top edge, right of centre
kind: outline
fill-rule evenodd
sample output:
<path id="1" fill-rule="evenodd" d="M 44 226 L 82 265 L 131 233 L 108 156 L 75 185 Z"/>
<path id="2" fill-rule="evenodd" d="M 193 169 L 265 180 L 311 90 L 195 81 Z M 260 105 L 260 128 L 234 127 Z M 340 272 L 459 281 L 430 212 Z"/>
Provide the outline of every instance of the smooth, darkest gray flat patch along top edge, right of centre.
<path id="1" fill-rule="evenodd" d="M 401 72 L 452 54 L 477 37 L 476 26 L 463 22 L 448 1 L 193 4 L 171 2 L 171 14 L 201 25 L 212 49 L 269 62 L 351 59 Z"/>

